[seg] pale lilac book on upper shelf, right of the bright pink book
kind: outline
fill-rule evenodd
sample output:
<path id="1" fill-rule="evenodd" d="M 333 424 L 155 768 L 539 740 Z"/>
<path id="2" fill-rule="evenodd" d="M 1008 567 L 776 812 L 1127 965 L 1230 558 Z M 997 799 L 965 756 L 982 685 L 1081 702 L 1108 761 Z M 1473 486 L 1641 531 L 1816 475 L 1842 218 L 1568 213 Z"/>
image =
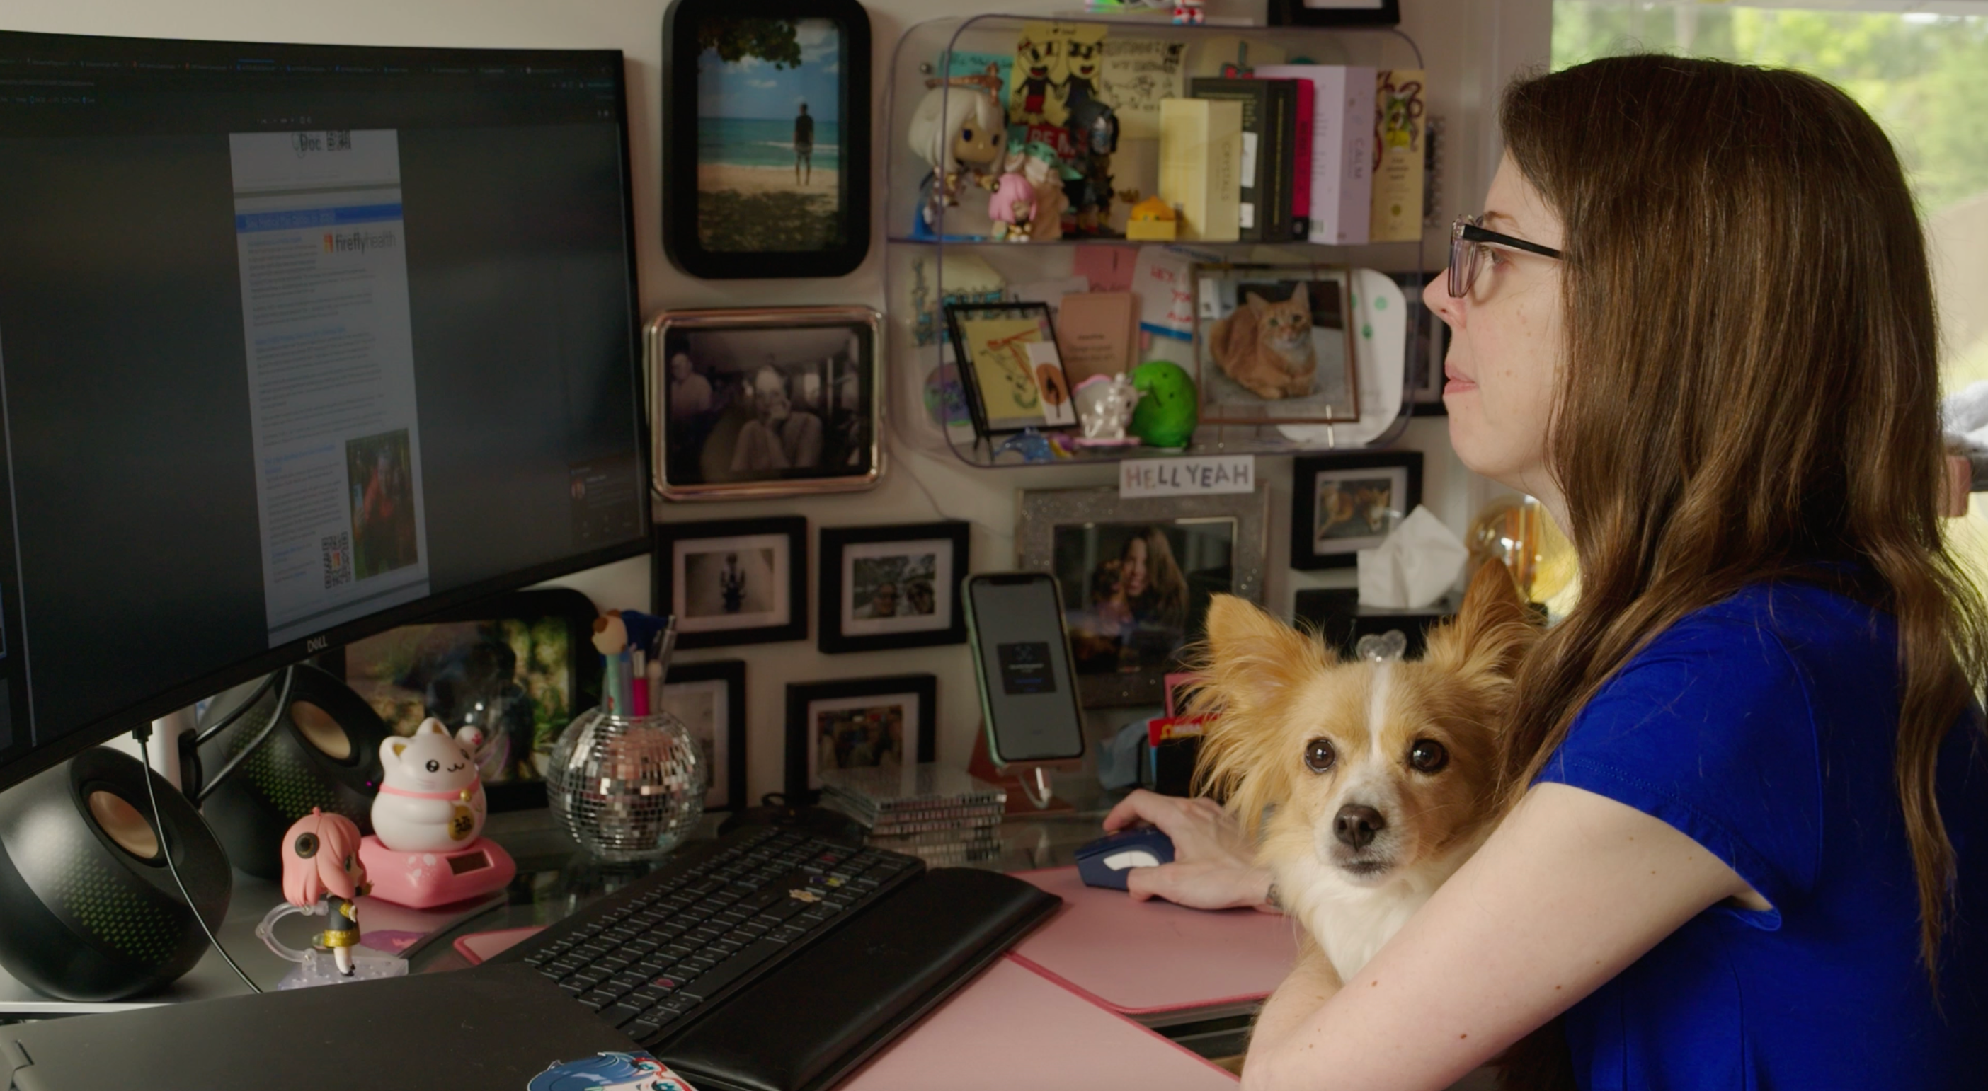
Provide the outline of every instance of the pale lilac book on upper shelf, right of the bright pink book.
<path id="1" fill-rule="evenodd" d="M 1360 244 L 1374 215 L 1374 87 L 1378 72 L 1342 64 L 1264 64 L 1258 79 L 1312 81 L 1310 242 Z"/>

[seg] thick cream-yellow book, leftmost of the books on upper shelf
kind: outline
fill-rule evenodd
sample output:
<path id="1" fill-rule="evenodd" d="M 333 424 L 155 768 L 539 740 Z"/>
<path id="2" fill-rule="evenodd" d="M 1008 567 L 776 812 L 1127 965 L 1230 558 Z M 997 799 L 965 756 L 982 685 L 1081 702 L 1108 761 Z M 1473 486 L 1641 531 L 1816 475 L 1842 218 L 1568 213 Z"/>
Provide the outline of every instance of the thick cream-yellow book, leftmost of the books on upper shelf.
<path id="1" fill-rule="evenodd" d="M 1183 242 L 1241 238 L 1242 103 L 1161 99 L 1159 199 L 1179 209 Z"/>

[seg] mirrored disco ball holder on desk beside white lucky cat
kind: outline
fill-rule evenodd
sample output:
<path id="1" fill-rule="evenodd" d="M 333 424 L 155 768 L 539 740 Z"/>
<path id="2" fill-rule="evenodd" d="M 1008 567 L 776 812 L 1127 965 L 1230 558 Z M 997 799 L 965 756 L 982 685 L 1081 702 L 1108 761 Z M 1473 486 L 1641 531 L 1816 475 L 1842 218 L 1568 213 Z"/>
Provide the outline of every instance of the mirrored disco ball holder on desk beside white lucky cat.
<path id="1" fill-rule="evenodd" d="M 682 719 L 590 707 L 559 735 L 545 791 L 582 849 L 602 860 L 646 860 L 670 853 L 698 827 L 704 765 Z"/>

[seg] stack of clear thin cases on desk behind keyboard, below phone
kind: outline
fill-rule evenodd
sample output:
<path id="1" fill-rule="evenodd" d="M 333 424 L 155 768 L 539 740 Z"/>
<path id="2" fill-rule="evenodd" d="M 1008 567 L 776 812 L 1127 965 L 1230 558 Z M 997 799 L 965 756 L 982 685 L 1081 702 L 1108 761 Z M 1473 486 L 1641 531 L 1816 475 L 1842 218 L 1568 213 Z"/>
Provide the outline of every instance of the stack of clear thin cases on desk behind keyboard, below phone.
<path id="1" fill-rule="evenodd" d="M 1008 793 L 932 763 L 823 769 L 821 805 L 861 823 L 865 845 L 952 866 L 1000 858 Z"/>

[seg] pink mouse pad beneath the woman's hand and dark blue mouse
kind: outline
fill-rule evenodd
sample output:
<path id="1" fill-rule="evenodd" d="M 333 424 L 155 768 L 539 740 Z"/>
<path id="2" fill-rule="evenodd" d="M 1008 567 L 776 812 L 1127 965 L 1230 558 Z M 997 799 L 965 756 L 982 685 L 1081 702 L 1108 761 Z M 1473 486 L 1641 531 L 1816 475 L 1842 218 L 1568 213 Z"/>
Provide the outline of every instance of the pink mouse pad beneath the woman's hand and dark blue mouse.
<path id="1" fill-rule="evenodd" d="M 1298 932 L 1256 910 L 1191 910 L 1085 886 L 1077 868 L 1018 872 L 1064 898 L 1010 958 L 1121 1015 L 1262 1000 L 1290 974 Z"/>

